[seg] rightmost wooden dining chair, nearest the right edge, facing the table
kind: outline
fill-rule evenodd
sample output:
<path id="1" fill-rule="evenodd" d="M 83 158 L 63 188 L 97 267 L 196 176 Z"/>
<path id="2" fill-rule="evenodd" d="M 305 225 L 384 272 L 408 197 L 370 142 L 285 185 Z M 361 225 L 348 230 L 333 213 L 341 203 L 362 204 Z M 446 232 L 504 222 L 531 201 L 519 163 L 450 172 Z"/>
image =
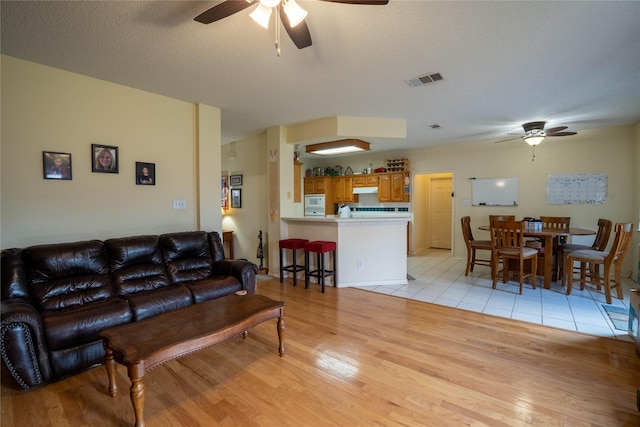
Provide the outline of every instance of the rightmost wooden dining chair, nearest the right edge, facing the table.
<path id="1" fill-rule="evenodd" d="M 573 264 L 574 262 L 580 263 L 580 290 L 584 290 L 585 283 L 587 282 L 586 266 L 603 265 L 604 272 L 602 276 L 600 274 L 593 274 L 589 278 L 589 282 L 596 285 L 598 290 L 601 289 L 601 284 L 604 285 L 604 295 L 607 299 L 607 304 L 611 304 L 611 288 L 616 288 L 616 294 L 618 299 L 623 299 L 622 282 L 620 279 L 620 270 L 622 267 L 622 261 L 627 255 L 629 245 L 631 243 L 631 234 L 633 233 L 633 224 L 618 223 L 615 226 L 616 236 L 611 245 L 609 252 L 596 251 L 593 249 L 580 249 L 577 251 L 571 251 L 567 253 L 566 262 L 564 265 L 564 279 L 563 284 L 566 282 L 567 295 L 571 294 L 573 288 L 574 274 Z M 611 268 L 613 267 L 613 284 L 611 283 Z M 602 283 L 601 280 L 602 279 Z"/>

